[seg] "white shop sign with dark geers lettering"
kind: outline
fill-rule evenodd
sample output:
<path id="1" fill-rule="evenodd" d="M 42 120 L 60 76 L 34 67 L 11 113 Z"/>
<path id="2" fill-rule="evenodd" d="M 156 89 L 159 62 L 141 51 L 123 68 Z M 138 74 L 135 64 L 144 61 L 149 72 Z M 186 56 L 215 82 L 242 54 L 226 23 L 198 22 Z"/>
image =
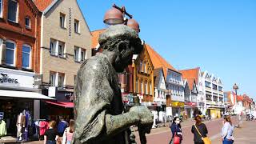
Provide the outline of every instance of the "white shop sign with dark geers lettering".
<path id="1" fill-rule="evenodd" d="M 0 68 L 0 86 L 34 88 L 34 74 L 21 70 Z"/>

